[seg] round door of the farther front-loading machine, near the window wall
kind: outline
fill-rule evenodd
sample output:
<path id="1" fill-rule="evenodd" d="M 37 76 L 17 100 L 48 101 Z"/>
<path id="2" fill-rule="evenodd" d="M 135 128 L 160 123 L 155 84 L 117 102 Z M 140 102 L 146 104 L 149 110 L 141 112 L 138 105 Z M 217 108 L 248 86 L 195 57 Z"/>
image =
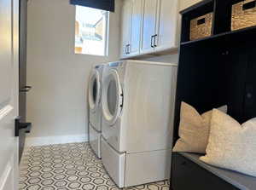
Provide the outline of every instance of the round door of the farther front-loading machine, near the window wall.
<path id="1" fill-rule="evenodd" d="M 100 104 L 101 99 L 101 83 L 100 74 L 96 70 L 90 75 L 89 84 L 89 106 L 92 112 L 96 111 L 96 107 Z"/>

